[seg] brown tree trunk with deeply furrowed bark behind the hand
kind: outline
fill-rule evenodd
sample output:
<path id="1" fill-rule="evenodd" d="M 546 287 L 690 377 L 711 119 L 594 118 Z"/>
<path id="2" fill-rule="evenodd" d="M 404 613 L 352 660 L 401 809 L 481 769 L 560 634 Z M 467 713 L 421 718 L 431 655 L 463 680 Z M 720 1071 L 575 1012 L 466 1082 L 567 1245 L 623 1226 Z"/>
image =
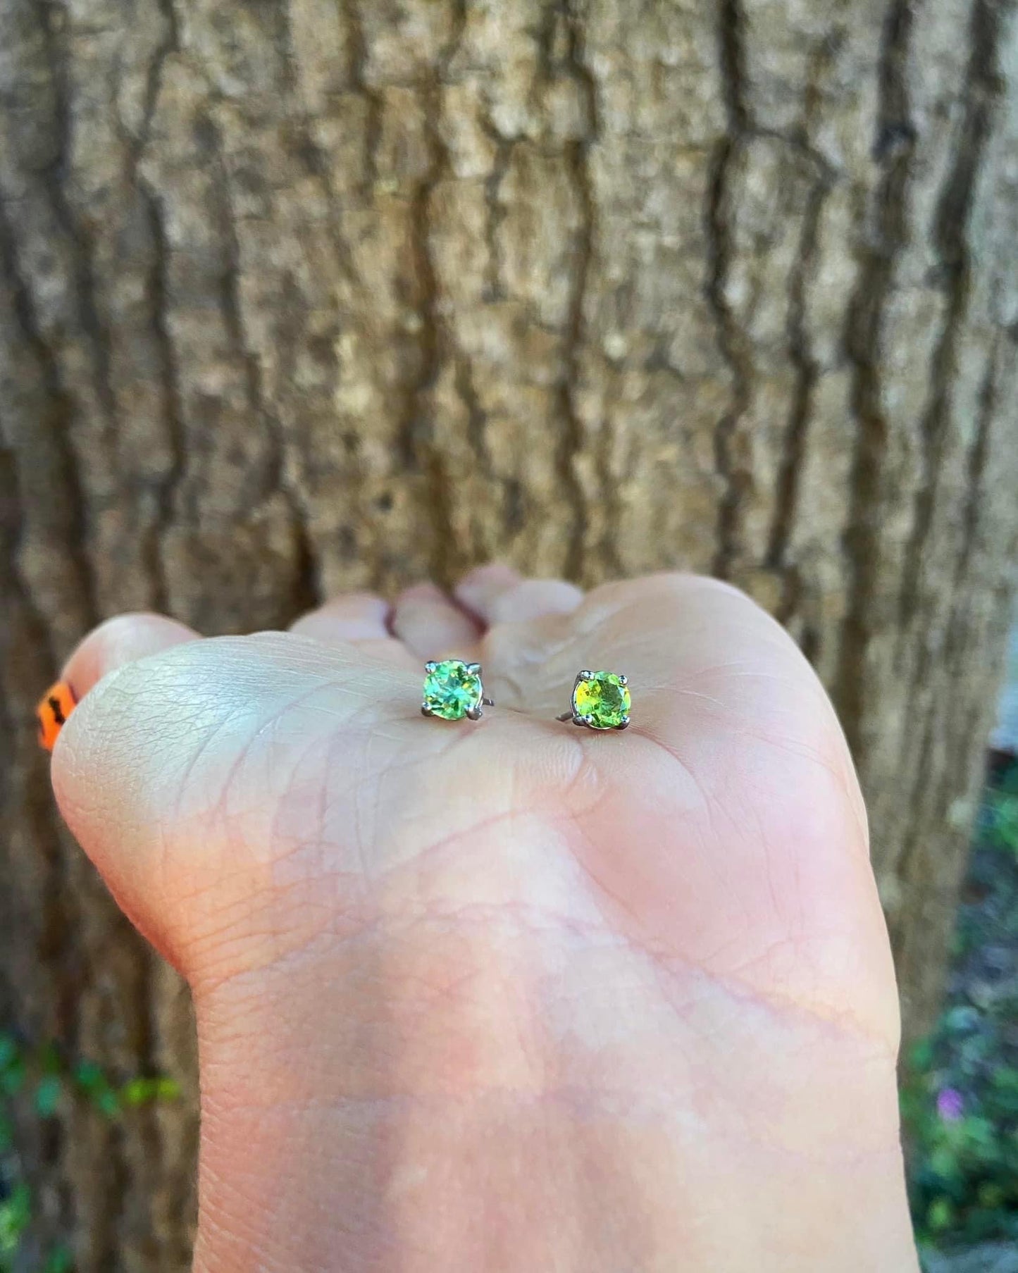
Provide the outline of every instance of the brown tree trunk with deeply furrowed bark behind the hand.
<path id="1" fill-rule="evenodd" d="M 939 990 L 1018 505 L 1013 0 L 0 0 L 3 1012 L 191 1074 L 31 709 L 491 556 L 746 587 Z M 22 1129 L 80 1273 L 186 1267 L 186 1109 Z"/>

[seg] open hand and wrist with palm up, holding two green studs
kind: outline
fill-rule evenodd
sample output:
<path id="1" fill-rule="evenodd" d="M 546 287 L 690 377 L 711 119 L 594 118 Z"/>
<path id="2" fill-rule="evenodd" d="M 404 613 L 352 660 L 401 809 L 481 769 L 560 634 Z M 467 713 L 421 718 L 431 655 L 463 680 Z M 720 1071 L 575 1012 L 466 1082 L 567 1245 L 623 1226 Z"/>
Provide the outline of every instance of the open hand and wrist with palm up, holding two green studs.
<path id="1" fill-rule="evenodd" d="M 582 667 L 626 733 L 555 722 Z M 60 807 L 195 995 L 196 1273 L 916 1269 L 863 801 L 743 594 L 489 566 L 66 675 Z"/>

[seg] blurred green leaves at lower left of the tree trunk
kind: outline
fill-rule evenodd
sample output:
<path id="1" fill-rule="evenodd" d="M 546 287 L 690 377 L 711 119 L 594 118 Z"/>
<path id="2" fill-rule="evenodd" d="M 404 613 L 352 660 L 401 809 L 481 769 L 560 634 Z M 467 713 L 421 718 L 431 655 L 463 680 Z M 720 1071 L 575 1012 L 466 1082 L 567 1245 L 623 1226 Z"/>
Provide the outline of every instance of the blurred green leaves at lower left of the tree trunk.
<path id="1" fill-rule="evenodd" d="M 165 1076 L 117 1083 L 94 1062 L 71 1063 L 53 1044 L 29 1048 L 0 1032 L 0 1273 L 24 1268 L 19 1258 L 34 1214 L 29 1183 L 14 1146 L 15 1122 L 56 1118 L 71 1101 L 84 1101 L 107 1119 L 153 1101 L 176 1100 L 179 1087 Z M 60 1244 L 36 1262 L 32 1273 L 71 1273 L 74 1258 Z"/>

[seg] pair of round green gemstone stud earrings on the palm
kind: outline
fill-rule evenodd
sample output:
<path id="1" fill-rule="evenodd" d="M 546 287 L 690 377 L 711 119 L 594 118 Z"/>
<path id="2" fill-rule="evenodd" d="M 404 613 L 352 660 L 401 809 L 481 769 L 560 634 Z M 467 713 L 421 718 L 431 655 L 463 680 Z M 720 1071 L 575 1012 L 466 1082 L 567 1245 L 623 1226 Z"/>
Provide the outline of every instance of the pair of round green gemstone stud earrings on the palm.
<path id="1" fill-rule="evenodd" d="M 440 663 L 424 665 L 424 715 L 443 721 L 480 721 L 485 707 L 494 701 L 485 698 L 481 684 L 481 665 L 447 658 Z M 631 705 L 629 680 L 618 672 L 576 673 L 573 682 L 573 705 L 556 721 L 571 721 L 587 729 L 625 729 L 629 726 Z"/>

